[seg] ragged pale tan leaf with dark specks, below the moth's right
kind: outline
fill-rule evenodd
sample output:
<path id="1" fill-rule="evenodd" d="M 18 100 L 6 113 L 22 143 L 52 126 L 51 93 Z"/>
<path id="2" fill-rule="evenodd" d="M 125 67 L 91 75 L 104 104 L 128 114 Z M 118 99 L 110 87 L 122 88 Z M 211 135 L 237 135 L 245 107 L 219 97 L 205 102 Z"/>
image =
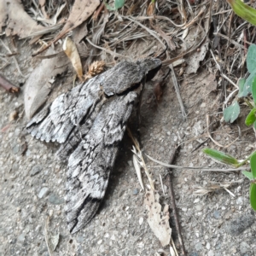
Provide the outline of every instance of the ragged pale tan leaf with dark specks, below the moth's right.
<path id="1" fill-rule="evenodd" d="M 171 240 L 172 230 L 169 225 L 169 206 L 164 207 L 161 212 L 159 203 L 160 195 L 154 190 L 147 191 L 144 199 L 144 205 L 148 210 L 148 224 L 153 230 L 154 235 L 160 240 L 163 247 L 166 247 Z"/>

